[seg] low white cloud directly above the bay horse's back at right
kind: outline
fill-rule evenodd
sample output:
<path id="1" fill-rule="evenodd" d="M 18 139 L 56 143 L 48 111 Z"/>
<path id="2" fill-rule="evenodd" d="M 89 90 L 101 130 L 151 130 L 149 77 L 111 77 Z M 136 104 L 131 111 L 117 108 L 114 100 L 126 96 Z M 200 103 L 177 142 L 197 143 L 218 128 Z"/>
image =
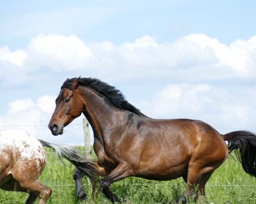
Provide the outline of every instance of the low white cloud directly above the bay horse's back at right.
<path id="1" fill-rule="evenodd" d="M 215 127 L 255 127 L 256 87 L 233 92 L 207 84 L 174 84 L 155 94 L 151 101 L 140 101 L 142 112 L 155 118 L 200 119 Z"/>

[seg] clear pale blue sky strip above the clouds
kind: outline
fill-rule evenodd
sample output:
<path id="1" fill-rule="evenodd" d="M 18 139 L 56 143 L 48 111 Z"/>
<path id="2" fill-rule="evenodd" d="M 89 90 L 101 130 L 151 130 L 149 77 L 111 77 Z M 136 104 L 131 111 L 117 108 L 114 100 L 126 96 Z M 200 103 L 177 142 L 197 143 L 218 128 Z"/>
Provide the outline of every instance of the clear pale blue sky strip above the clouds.
<path id="1" fill-rule="evenodd" d="M 0 44 L 23 48 L 37 34 L 76 34 L 115 45 L 145 34 L 172 42 L 204 33 L 230 44 L 256 32 L 253 0 L 1 1 Z"/>

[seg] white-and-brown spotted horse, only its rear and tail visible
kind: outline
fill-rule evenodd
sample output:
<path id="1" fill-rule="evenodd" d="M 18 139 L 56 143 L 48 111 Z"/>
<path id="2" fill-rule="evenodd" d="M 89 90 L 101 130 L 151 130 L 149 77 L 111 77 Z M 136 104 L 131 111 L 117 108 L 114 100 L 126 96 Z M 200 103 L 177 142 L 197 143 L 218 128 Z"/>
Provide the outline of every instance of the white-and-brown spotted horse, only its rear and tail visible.
<path id="1" fill-rule="evenodd" d="M 52 148 L 60 159 L 64 157 L 79 170 L 88 173 L 86 165 L 90 164 L 90 160 L 79 156 L 78 150 L 72 146 L 37 140 L 20 130 L 1 131 L 0 188 L 28 193 L 26 204 L 34 203 L 38 196 L 39 204 L 45 204 L 52 194 L 52 190 L 38 180 L 47 162 L 43 146 Z"/>

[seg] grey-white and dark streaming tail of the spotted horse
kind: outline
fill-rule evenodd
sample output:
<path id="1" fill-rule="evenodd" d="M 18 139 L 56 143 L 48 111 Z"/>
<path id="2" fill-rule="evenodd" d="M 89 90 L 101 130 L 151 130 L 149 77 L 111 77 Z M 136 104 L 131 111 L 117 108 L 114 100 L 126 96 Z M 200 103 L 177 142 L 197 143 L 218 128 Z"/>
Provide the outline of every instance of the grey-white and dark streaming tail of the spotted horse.
<path id="1" fill-rule="evenodd" d="M 38 141 L 41 142 L 44 147 L 52 148 L 62 163 L 64 163 L 62 159 L 62 157 L 64 157 L 90 179 L 92 184 L 92 197 L 94 199 L 95 189 L 98 183 L 96 176 L 103 176 L 95 164 L 93 164 L 94 160 L 81 155 L 76 148 L 70 145 L 52 144 L 40 139 L 38 139 Z"/>

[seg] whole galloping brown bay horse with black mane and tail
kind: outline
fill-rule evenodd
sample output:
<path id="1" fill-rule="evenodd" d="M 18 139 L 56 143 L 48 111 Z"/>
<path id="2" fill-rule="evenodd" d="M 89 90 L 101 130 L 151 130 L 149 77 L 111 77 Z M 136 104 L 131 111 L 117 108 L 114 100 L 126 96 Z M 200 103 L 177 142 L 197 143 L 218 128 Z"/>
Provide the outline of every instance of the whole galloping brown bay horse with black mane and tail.
<path id="1" fill-rule="evenodd" d="M 113 182 L 129 176 L 166 181 L 182 177 L 183 195 L 207 202 L 205 184 L 232 150 L 246 173 L 256 176 L 256 135 L 248 131 L 220 134 L 205 122 L 192 119 L 152 119 L 127 102 L 115 87 L 95 78 L 67 79 L 55 100 L 49 129 L 57 136 L 84 113 L 93 134 L 98 161 L 91 169 L 105 175 L 99 189 L 112 202 L 121 200 L 110 190 Z M 228 142 L 228 145 L 226 142 Z M 76 170 L 77 198 L 86 199 Z"/>

